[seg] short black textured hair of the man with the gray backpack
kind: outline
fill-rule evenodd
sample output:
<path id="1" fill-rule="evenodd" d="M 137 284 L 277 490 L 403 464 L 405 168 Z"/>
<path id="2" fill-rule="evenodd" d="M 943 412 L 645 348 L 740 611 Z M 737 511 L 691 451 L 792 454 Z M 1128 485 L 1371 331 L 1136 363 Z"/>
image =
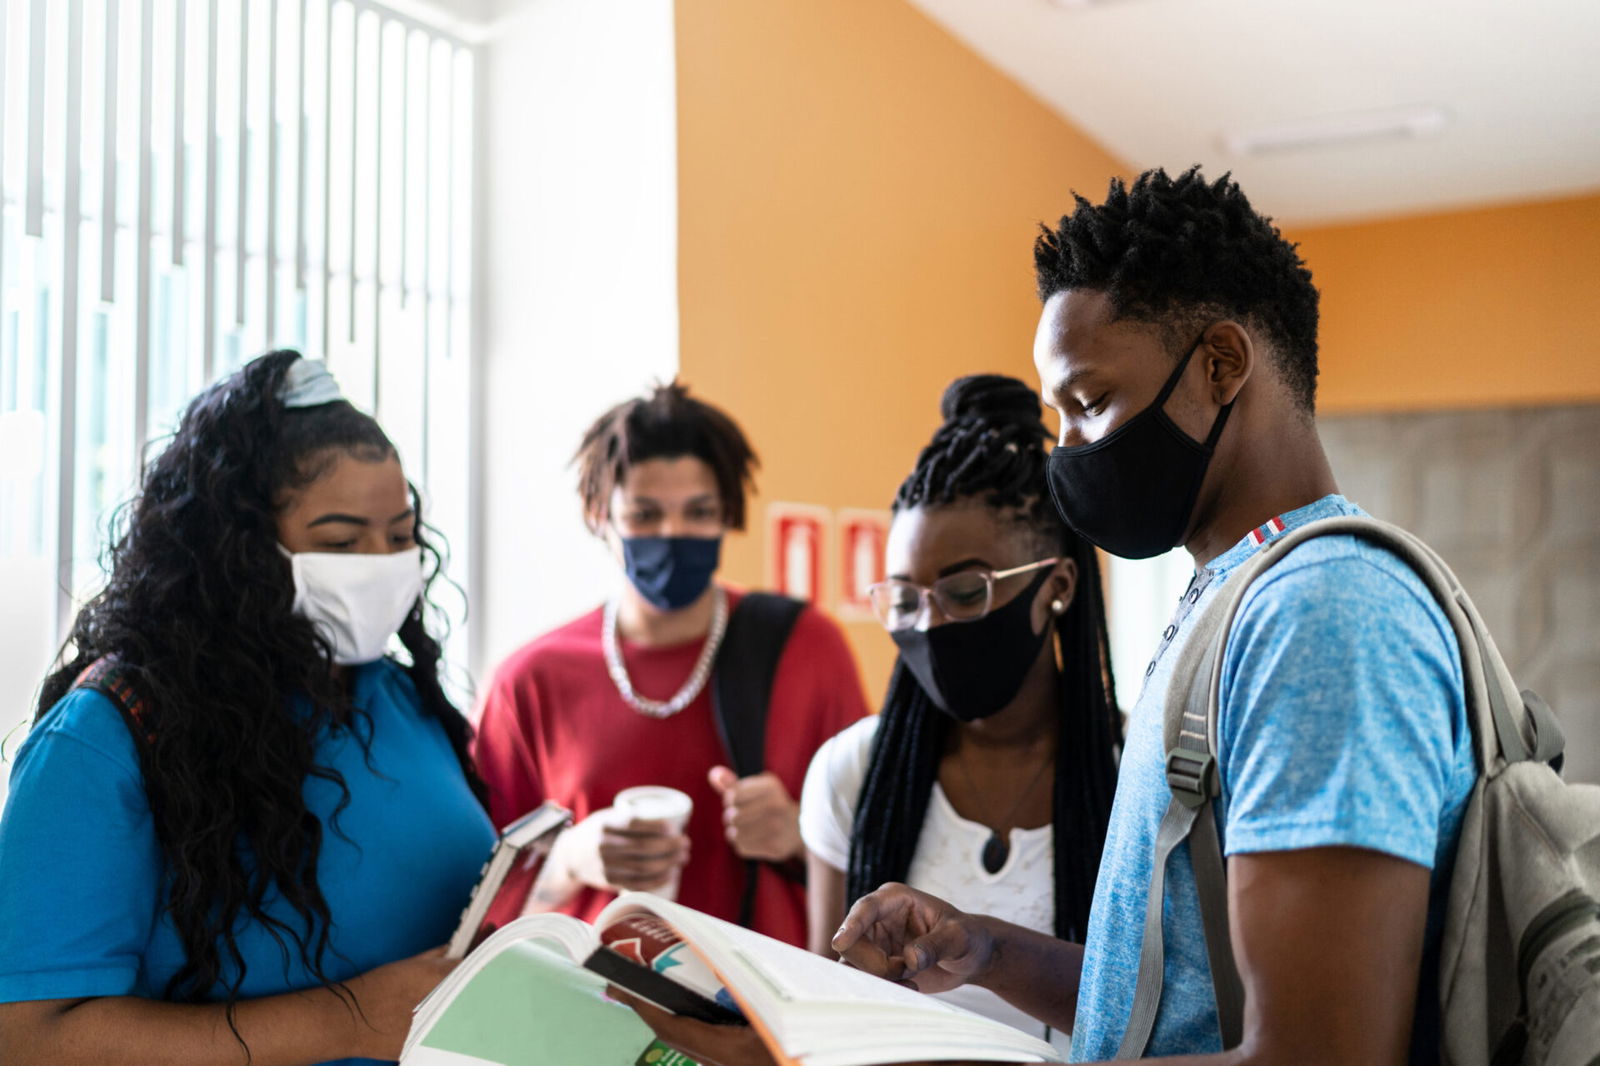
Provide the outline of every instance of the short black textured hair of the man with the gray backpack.
<path id="1" fill-rule="evenodd" d="M 1290 395 L 1317 407 L 1317 288 L 1296 245 L 1258 214 L 1229 174 L 1147 170 L 1112 178 L 1106 202 L 1077 206 L 1034 242 L 1038 299 L 1104 291 L 1117 319 L 1158 327 L 1174 347 L 1206 319 L 1230 317 L 1270 343 Z M 1181 354 L 1179 354 L 1181 355 Z"/>

